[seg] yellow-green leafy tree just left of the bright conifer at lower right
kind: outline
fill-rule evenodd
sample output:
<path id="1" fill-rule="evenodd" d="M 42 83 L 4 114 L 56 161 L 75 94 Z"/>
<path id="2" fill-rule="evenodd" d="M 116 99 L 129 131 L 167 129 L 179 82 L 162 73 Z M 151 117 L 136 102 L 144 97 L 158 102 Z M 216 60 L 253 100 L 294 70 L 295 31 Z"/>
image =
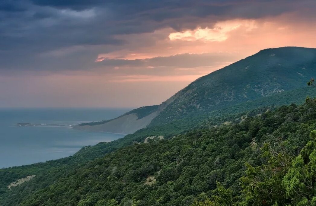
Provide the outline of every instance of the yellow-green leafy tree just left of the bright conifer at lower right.
<path id="1" fill-rule="evenodd" d="M 277 148 L 265 144 L 262 151 L 266 163 L 258 167 L 246 163 L 246 175 L 240 179 L 242 205 L 284 205 L 286 198 L 282 178 L 289 168 L 290 157 L 282 145 Z"/>

